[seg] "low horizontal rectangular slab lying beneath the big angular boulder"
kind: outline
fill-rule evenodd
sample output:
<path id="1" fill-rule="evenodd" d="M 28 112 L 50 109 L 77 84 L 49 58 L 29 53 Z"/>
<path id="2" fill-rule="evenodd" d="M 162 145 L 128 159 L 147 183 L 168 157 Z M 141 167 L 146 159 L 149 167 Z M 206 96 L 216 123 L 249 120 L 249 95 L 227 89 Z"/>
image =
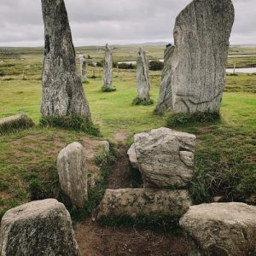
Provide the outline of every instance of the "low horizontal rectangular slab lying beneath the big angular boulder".
<path id="1" fill-rule="evenodd" d="M 192 205 L 187 190 L 107 189 L 100 205 L 102 216 L 181 216 Z"/>

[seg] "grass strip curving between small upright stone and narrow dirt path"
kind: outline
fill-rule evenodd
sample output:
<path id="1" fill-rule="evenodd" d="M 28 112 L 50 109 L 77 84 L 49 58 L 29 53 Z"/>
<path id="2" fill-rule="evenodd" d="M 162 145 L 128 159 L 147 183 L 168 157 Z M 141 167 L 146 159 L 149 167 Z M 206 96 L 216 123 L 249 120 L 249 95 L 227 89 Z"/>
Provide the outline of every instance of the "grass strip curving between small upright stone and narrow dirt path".
<path id="1" fill-rule="evenodd" d="M 96 186 L 88 191 L 88 201 L 86 201 L 84 209 L 79 211 L 71 210 L 74 222 L 88 218 L 96 210 L 107 188 L 110 168 L 118 157 L 119 154 L 113 145 L 110 145 L 109 151 L 103 151 L 101 154 L 96 155 L 95 162 L 101 168 L 101 177 L 96 182 Z"/>

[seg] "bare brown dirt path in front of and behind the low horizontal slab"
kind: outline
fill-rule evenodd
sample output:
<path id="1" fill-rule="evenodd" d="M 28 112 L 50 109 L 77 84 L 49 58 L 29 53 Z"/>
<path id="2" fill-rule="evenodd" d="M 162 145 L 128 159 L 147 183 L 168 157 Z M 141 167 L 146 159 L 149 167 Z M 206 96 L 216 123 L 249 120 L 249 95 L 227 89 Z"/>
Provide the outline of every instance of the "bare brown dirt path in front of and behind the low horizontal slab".
<path id="1" fill-rule="evenodd" d="M 119 147 L 120 159 L 113 166 L 108 189 L 129 188 L 127 148 Z M 183 237 L 167 238 L 150 230 L 101 227 L 95 217 L 79 223 L 75 229 L 81 256 L 183 256 L 186 243 Z"/>

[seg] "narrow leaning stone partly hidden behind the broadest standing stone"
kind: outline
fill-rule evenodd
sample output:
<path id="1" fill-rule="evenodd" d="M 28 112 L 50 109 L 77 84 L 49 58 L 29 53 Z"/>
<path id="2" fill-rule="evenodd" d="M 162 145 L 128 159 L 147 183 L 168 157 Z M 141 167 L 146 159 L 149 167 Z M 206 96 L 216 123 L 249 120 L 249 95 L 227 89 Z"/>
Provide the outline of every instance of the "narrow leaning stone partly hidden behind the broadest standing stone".
<path id="1" fill-rule="evenodd" d="M 172 54 L 174 46 L 172 44 L 166 45 L 164 57 L 164 69 L 162 71 L 160 96 L 155 108 L 155 113 L 165 113 L 166 110 L 172 109 L 172 87 L 171 87 L 171 68 L 172 68 Z"/>

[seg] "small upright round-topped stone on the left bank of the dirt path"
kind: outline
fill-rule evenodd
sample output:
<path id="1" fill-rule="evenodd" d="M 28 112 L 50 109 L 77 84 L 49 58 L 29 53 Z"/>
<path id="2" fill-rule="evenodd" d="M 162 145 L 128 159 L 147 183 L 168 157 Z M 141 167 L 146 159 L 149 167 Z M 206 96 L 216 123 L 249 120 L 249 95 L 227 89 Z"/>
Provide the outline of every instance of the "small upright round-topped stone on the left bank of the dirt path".
<path id="1" fill-rule="evenodd" d="M 85 150 L 80 143 L 71 143 L 58 155 L 57 169 L 61 191 L 72 202 L 73 207 L 81 209 L 87 200 L 87 171 Z"/>

